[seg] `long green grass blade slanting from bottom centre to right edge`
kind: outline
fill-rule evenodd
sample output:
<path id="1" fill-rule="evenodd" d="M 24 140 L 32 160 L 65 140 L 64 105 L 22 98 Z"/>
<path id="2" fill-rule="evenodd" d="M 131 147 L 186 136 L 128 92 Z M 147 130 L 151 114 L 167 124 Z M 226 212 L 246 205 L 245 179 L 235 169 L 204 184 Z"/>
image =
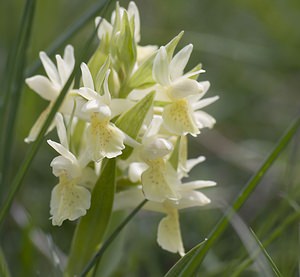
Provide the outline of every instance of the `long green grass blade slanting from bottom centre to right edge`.
<path id="1" fill-rule="evenodd" d="M 232 217 L 233 212 L 239 210 L 243 204 L 246 202 L 248 197 L 254 191 L 254 189 L 259 184 L 259 181 L 266 174 L 268 169 L 271 167 L 273 162 L 277 159 L 279 154 L 286 147 L 291 138 L 295 135 L 300 125 L 300 117 L 298 116 L 296 120 L 287 129 L 286 133 L 281 137 L 281 139 L 276 144 L 273 151 L 266 158 L 262 166 L 255 172 L 249 182 L 244 186 L 239 196 L 234 201 L 232 207 L 226 212 L 226 214 L 220 219 L 216 224 L 215 228 L 208 236 L 208 240 L 203 247 L 197 248 L 193 255 L 184 256 L 181 258 L 165 275 L 166 277 L 178 277 L 178 276 L 194 276 L 198 267 L 202 263 L 206 253 L 214 245 L 217 239 L 223 234 L 228 226 L 229 219 Z"/>

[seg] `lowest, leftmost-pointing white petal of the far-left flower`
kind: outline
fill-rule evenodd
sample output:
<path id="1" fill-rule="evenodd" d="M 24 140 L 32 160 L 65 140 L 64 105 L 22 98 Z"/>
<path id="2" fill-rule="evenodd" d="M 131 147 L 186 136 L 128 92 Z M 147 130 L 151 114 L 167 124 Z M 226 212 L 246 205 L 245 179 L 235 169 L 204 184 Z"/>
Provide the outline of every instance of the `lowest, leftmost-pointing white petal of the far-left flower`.
<path id="1" fill-rule="evenodd" d="M 48 78 L 36 75 L 26 79 L 26 84 L 42 98 L 53 101 L 58 95 L 59 88 L 55 87 Z"/>

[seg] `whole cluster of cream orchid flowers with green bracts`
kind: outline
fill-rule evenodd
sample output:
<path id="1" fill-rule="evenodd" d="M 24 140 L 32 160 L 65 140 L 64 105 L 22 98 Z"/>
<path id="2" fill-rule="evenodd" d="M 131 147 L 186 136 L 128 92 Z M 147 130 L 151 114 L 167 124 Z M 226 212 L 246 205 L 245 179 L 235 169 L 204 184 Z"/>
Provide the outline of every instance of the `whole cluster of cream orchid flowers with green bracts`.
<path id="1" fill-rule="evenodd" d="M 133 207 L 147 199 L 145 209 L 163 213 L 158 244 L 184 255 L 180 209 L 203 206 L 210 200 L 198 189 L 212 181 L 183 182 L 204 157 L 187 159 L 187 135 L 212 128 L 215 120 L 202 108 L 218 97 L 203 99 L 208 81 L 198 82 L 200 65 L 184 69 L 193 46 L 174 50 L 180 33 L 165 46 L 141 46 L 136 5 L 119 7 L 111 21 L 96 18 L 100 44 L 88 64 L 81 64 L 79 88 L 69 89 L 48 131 L 56 128 L 59 143 L 48 140 L 58 156 L 51 162 L 59 182 L 53 188 L 53 225 L 76 220 L 90 208 L 93 187 L 106 159 L 116 159 L 114 209 Z M 34 141 L 75 64 L 73 47 L 40 58 L 47 77 L 26 79 L 28 86 L 50 103 L 32 127 Z"/>

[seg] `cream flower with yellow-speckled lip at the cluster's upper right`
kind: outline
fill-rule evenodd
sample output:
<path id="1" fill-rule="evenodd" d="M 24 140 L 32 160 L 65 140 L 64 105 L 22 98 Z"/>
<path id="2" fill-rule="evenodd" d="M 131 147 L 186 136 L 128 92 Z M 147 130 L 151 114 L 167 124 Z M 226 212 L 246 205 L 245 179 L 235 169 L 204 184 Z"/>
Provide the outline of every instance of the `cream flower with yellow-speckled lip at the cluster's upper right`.
<path id="1" fill-rule="evenodd" d="M 187 45 L 171 60 L 166 48 L 160 47 L 153 63 L 153 79 L 157 86 L 157 99 L 168 102 L 163 109 L 164 126 L 176 135 L 196 136 L 199 129 L 211 128 L 215 119 L 199 109 L 213 103 L 217 96 L 200 100 L 209 88 L 209 82 L 197 82 L 191 77 L 203 72 L 197 70 L 183 74 L 193 46 Z"/>

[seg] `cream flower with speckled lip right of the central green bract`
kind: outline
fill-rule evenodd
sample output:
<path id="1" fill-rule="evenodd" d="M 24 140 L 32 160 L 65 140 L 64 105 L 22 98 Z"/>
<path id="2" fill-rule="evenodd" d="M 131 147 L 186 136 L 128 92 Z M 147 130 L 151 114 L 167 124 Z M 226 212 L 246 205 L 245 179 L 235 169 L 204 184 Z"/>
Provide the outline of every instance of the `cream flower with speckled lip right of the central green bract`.
<path id="1" fill-rule="evenodd" d="M 174 190 L 174 186 L 179 182 L 176 171 L 166 160 L 173 150 L 173 145 L 157 135 L 161 122 L 160 117 L 153 118 L 141 145 L 136 147 L 133 154 L 136 161 L 129 164 L 128 170 L 130 180 L 141 181 L 145 197 L 157 202 L 179 198 Z"/>

